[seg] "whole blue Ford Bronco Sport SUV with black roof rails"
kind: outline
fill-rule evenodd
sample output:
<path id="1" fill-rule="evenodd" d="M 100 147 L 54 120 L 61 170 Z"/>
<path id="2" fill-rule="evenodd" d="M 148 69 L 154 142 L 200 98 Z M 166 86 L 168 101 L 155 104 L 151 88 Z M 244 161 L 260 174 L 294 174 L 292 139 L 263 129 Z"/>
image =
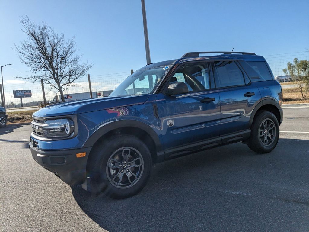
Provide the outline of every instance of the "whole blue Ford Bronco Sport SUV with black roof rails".
<path id="1" fill-rule="evenodd" d="M 158 162 L 240 141 L 271 152 L 281 102 L 262 56 L 191 52 L 142 67 L 109 97 L 36 111 L 29 148 L 65 183 L 126 198 L 142 190 Z"/>

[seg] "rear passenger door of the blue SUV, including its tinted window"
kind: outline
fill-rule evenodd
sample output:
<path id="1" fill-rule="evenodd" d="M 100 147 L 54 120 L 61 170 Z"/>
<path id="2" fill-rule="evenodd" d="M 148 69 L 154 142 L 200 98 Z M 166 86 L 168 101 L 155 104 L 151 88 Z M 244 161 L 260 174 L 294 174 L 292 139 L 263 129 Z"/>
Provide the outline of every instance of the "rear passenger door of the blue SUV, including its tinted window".
<path id="1" fill-rule="evenodd" d="M 221 135 L 250 129 L 251 113 L 261 100 L 256 85 L 236 61 L 215 61 L 214 79 L 220 96 Z"/>

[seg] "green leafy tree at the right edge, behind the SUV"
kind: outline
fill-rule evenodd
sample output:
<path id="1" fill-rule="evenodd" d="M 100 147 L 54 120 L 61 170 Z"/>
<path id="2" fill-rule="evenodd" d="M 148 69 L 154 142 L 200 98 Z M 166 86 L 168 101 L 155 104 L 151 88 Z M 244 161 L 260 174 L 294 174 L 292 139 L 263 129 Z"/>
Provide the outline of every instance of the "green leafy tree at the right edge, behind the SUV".
<path id="1" fill-rule="evenodd" d="M 288 62 L 287 68 L 282 71 L 291 76 L 297 88 L 300 89 L 302 97 L 306 98 L 309 92 L 309 61 L 294 58 L 293 64 Z"/>

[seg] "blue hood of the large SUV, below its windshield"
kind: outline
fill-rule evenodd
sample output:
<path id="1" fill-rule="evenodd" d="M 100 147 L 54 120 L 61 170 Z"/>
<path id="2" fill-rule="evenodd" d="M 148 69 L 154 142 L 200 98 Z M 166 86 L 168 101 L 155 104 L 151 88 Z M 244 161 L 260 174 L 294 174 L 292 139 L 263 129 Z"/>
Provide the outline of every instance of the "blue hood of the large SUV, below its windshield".
<path id="1" fill-rule="evenodd" d="M 139 105 L 147 101 L 149 95 L 128 97 L 104 97 L 77 101 L 61 102 L 46 106 L 33 113 L 33 117 L 54 117 L 72 114 L 83 114 L 87 112 L 113 109 L 128 105 Z"/>

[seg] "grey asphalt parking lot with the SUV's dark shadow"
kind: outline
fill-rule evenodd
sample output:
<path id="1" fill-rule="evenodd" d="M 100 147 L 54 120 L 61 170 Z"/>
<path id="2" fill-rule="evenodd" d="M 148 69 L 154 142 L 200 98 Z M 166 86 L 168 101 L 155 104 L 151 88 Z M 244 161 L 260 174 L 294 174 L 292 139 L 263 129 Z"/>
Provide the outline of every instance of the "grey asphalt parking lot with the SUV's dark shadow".
<path id="1" fill-rule="evenodd" d="M 269 154 L 237 143 L 160 163 L 112 200 L 38 165 L 30 125 L 0 129 L 0 230 L 309 231 L 309 108 L 284 109 L 280 131 Z"/>

